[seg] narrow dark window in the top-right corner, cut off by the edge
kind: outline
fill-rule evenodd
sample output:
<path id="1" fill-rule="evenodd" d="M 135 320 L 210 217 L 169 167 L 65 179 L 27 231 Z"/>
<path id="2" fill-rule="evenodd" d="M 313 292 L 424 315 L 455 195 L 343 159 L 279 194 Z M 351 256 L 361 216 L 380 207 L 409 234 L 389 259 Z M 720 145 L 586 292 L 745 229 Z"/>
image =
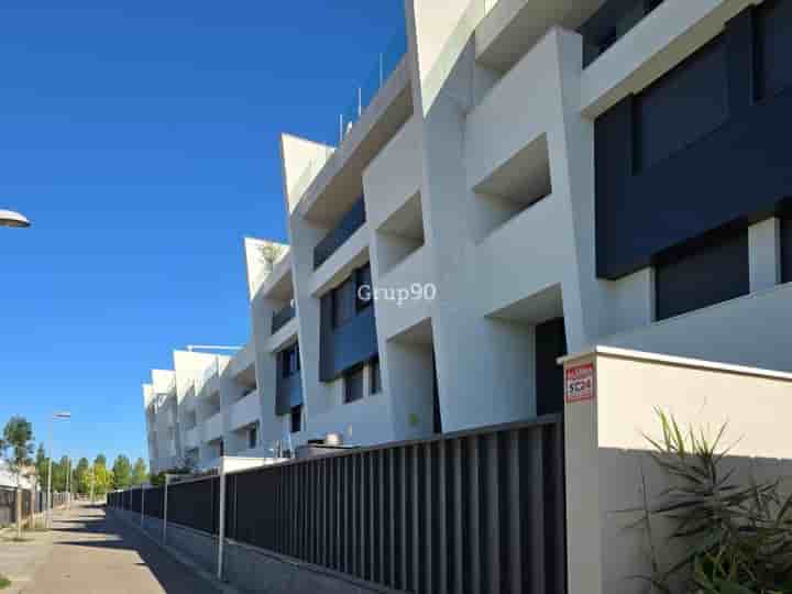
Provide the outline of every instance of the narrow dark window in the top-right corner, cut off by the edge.
<path id="1" fill-rule="evenodd" d="M 792 2 L 768 0 L 756 14 L 762 97 L 771 97 L 792 85 Z"/>

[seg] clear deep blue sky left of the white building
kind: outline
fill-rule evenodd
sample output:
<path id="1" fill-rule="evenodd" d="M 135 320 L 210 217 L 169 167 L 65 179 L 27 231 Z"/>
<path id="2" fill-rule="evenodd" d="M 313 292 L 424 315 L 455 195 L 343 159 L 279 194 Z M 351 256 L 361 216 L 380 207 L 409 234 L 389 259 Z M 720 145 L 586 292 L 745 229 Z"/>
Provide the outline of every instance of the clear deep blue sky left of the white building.
<path id="1" fill-rule="evenodd" d="M 285 240 L 278 135 L 323 140 L 399 0 L 3 0 L 0 424 L 145 454 L 141 383 L 250 333 L 242 238 Z M 402 25 L 403 26 L 403 25 Z M 328 139 L 329 140 L 329 139 Z"/>

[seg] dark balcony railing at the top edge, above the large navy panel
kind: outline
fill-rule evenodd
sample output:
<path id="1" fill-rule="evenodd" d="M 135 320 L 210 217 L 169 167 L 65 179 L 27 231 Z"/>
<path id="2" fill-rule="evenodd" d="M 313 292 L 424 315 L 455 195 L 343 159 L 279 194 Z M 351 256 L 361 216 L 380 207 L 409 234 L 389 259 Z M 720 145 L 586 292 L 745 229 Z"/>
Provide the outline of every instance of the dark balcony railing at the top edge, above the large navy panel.
<path id="1" fill-rule="evenodd" d="M 608 0 L 583 23 L 578 33 L 583 36 L 583 67 L 640 23 L 663 0 Z"/>

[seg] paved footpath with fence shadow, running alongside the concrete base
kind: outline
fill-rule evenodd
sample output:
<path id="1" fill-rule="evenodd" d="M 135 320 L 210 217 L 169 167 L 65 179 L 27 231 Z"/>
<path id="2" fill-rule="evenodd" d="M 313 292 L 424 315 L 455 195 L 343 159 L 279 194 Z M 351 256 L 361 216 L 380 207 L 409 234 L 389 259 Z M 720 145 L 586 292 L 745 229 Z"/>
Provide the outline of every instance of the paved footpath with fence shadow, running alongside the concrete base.
<path id="1" fill-rule="evenodd" d="M 22 594 L 219 592 L 101 506 L 77 505 L 55 519 L 52 535 L 50 558 Z"/>

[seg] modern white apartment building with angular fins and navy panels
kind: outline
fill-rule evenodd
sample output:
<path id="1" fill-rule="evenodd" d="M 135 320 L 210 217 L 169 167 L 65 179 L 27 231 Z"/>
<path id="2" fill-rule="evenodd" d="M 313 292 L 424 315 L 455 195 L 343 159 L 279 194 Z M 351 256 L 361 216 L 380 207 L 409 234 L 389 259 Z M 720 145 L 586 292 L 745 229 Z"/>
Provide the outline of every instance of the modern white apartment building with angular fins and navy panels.
<path id="1" fill-rule="evenodd" d="M 405 9 L 337 138 L 282 138 L 249 344 L 144 386 L 154 469 L 557 413 L 592 344 L 792 371 L 792 2 Z"/>

